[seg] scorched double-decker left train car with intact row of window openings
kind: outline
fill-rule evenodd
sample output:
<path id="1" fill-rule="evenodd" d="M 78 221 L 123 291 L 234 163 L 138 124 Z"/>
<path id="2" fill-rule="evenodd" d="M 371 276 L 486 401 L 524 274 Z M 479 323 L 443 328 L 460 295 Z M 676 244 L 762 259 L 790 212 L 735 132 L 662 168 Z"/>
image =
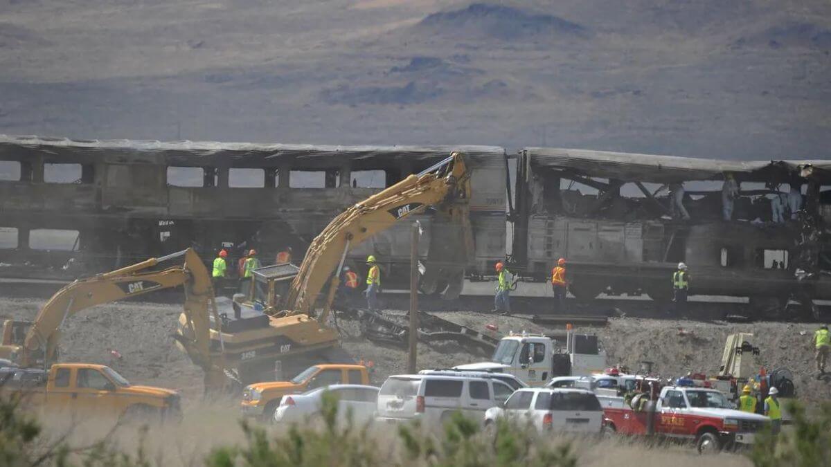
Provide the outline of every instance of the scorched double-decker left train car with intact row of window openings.
<path id="1" fill-rule="evenodd" d="M 454 150 L 468 155 L 472 170 L 471 224 L 488 233 L 475 241 L 504 245 L 505 165 L 498 147 L 0 136 L 0 275 L 76 278 L 191 246 L 206 262 L 226 248 L 232 264 L 250 248 L 270 264 L 291 247 L 299 262 L 342 209 Z M 425 261 L 435 256 L 429 254 L 435 244 L 453 250 L 443 241 L 447 226 L 431 225 L 429 213 L 419 219 Z M 487 236 L 494 232 L 499 238 Z M 361 272 L 366 255 L 375 254 L 386 268 L 386 287 L 395 288 L 409 277 L 409 245 L 409 229 L 396 226 L 355 248 L 349 262 Z M 493 256 L 476 254 L 464 260 L 470 273 Z M 450 295 L 461 280 L 445 280 L 457 289 Z"/>

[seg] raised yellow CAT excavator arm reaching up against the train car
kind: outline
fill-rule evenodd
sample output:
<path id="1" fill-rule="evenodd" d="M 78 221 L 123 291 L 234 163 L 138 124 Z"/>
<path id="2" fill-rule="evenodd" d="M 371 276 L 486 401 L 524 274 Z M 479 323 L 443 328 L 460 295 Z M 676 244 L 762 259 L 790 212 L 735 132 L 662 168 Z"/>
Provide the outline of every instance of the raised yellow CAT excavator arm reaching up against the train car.
<path id="1" fill-rule="evenodd" d="M 411 214 L 435 207 L 457 223 L 464 232 L 465 258 L 473 251 L 468 202 L 470 173 L 465 158 L 453 153 L 418 175 L 410 175 L 401 182 L 355 204 L 323 229 L 312 241 L 283 301 L 287 314 L 311 314 L 315 302 L 326 284 L 329 290 L 323 312 L 318 321 L 327 317 L 332 299 L 340 283 L 343 261 L 350 248 L 372 235 L 391 228 Z M 334 275 L 332 275 L 334 271 Z M 331 280 L 330 280 L 331 278 Z"/>

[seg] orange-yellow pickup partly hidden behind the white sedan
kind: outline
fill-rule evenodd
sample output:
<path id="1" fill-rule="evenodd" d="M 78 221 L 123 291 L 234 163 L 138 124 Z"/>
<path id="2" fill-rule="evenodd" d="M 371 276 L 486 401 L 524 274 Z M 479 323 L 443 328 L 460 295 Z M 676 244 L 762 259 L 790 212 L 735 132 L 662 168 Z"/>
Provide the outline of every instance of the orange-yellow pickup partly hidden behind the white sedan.
<path id="1" fill-rule="evenodd" d="M 271 420 L 283 396 L 301 394 L 333 384 L 369 384 L 369 371 L 363 365 L 309 366 L 290 381 L 264 381 L 245 386 L 240 404 L 243 415 Z"/>

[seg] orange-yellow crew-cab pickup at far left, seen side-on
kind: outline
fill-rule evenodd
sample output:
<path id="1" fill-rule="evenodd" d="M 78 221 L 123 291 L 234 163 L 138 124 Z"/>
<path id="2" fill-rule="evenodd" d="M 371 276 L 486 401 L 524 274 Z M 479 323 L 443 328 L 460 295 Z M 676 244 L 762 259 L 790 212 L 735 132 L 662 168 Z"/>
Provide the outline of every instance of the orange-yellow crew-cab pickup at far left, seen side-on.
<path id="1" fill-rule="evenodd" d="M 135 386 L 109 366 L 56 363 L 49 371 L 0 368 L 0 394 L 19 394 L 24 406 L 73 415 L 179 418 L 179 393 Z"/>

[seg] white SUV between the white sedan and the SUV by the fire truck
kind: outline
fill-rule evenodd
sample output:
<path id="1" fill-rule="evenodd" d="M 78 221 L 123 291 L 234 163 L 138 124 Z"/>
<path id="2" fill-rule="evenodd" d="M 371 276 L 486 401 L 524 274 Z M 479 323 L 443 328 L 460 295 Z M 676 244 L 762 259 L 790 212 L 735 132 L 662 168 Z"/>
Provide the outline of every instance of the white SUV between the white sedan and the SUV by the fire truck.
<path id="1" fill-rule="evenodd" d="M 450 375 L 390 376 L 378 392 L 376 419 L 395 423 L 419 419 L 444 423 L 456 410 L 482 420 L 484 411 L 501 406 L 514 389 L 495 378 Z"/>

